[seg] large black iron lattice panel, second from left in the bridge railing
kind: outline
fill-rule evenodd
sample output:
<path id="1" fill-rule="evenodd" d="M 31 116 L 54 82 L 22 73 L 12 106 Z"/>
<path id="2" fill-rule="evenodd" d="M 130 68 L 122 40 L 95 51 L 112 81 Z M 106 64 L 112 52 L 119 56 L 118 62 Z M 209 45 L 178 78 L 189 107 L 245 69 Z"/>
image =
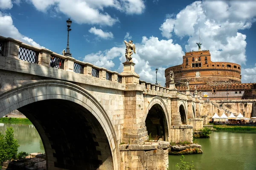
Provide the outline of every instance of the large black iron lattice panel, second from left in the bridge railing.
<path id="1" fill-rule="evenodd" d="M 38 51 L 29 50 L 27 48 L 19 48 L 19 59 L 27 62 L 38 64 Z"/>

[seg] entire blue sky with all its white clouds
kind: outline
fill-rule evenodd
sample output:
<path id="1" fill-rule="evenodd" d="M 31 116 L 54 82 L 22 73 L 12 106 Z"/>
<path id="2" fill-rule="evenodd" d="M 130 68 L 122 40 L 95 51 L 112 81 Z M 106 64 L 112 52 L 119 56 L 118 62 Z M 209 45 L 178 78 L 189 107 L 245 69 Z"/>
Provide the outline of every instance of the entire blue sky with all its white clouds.
<path id="1" fill-rule="evenodd" d="M 256 82 L 255 0 L 0 0 L 0 35 L 61 54 L 66 20 L 73 23 L 70 52 L 84 62 L 122 72 L 123 40 L 133 40 L 140 79 L 164 86 L 164 70 L 186 51 L 241 65 L 242 82 Z"/>

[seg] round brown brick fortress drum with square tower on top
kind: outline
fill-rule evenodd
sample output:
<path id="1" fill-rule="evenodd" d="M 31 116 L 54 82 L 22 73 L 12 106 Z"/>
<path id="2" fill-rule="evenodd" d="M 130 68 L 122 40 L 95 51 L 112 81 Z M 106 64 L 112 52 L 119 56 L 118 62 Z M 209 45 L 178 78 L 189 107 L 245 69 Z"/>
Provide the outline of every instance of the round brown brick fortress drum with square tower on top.
<path id="1" fill-rule="evenodd" d="M 183 63 L 165 70 L 166 86 L 169 86 L 169 71 L 174 81 L 190 85 L 222 85 L 241 83 L 241 66 L 231 62 L 212 62 L 209 50 L 186 52 Z"/>

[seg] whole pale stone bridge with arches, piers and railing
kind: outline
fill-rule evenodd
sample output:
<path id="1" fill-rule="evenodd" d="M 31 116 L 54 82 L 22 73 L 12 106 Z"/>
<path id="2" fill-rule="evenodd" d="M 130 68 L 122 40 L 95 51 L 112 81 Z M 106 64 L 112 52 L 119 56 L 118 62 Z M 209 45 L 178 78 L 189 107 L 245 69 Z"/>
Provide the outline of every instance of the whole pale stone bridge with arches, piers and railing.
<path id="1" fill-rule="evenodd" d="M 119 74 L 0 37 L 0 117 L 29 118 L 48 170 L 167 169 L 169 142 L 192 142 L 206 123 L 203 101 L 140 80 L 134 65 Z"/>

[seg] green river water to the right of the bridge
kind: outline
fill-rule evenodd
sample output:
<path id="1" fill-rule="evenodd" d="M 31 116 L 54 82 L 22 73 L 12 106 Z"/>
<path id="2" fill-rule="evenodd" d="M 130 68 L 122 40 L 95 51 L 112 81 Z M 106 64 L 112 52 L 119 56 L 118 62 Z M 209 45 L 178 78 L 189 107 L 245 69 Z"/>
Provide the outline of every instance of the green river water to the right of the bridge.
<path id="1" fill-rule="evenodd" d="M 196 139 L 203 154 L 185 155 L 196 170 L 255 170 L 256 133 L 213 132 L 209 139 Z M 169 156 L 169 170 L 176 170 L 181 156 Z"/>

